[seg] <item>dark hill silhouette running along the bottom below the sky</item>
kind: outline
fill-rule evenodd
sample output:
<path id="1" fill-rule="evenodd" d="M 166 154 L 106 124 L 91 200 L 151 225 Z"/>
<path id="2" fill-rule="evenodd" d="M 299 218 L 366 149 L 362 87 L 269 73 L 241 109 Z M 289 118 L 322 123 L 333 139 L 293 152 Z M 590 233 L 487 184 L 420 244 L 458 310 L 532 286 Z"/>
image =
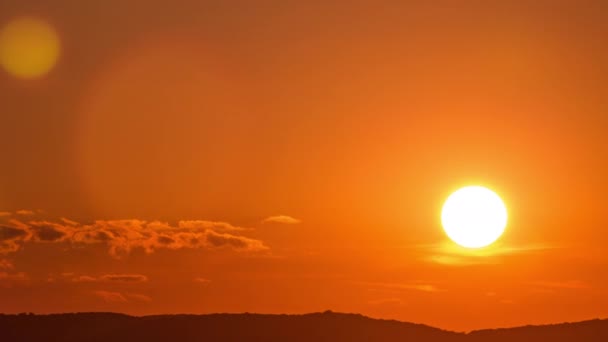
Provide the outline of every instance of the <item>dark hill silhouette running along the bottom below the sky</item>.
<path id="1" fill-rule="evenodd" d="M 478 330 L 327 311 L 306 315 L 211 314 L 132 317 L 115 313 L 0 315 L 0 341 L 608 341 L 608 320 Z"/>

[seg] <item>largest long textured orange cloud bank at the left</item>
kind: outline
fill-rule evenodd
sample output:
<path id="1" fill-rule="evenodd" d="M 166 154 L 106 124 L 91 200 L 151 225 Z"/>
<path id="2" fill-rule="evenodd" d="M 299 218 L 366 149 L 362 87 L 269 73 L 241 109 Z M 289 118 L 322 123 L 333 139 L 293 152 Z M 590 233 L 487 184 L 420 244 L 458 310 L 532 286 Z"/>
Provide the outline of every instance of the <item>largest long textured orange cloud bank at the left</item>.
<path id="1" fill-rule="evenodd" d="M 91 224 L 61 218 L 59 221 L 9 220 L 0 225 L 0 254 L 15 252 L 25 243 L 102 244 L 114 257 L 140 249 L 218 249 L 260 252 L 268 247 L 240 234 L 247 229 L 226 222 L 190 220 L 170 225 L 161 221 L 99 220 Z"/>

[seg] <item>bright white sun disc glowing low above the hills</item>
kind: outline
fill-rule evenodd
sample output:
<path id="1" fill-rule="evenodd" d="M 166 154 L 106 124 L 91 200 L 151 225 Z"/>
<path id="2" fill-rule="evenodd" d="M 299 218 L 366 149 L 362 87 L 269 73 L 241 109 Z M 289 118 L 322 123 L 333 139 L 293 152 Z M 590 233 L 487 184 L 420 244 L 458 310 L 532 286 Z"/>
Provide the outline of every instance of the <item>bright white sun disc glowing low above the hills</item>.
<path id="1" fill-rule="evenodd" d="M 496 241 L 507 226 L 507 208 L 492 190 L 467 186 L 448 197 L 441 211 L 441 223 L 448 237 L 466 248 L 486 247 Z"/>

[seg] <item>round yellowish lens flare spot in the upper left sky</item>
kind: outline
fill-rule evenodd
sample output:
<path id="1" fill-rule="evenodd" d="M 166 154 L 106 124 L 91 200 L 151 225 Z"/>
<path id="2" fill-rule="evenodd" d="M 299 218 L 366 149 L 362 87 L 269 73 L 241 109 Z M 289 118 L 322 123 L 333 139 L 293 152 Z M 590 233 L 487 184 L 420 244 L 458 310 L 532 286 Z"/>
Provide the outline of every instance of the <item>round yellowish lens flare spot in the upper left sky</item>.
<path id="1" fill-rule="evenodd" d="M 34 79 L 46 75 L 59 54 L 59 37 L 42 20 L 14 19 L 0 31 L 0 65 L 15 77 Z"/>

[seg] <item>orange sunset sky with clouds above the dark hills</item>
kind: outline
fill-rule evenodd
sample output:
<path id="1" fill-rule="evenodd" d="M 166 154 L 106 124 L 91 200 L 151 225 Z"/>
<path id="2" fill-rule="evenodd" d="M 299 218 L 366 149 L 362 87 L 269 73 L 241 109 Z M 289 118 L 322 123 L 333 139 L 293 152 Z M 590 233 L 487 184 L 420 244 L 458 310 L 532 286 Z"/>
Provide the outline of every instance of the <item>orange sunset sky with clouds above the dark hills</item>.
<path id="1" fill-rule="evenodd" d="M 607 317 L 607 16 L 2 0 L 0 30 L 27 18 L 58 50 L 34 76 L 0 63 L 0 312 Z M 441 227 L 472 184 L 509 212 L 474 251 Z"/>

